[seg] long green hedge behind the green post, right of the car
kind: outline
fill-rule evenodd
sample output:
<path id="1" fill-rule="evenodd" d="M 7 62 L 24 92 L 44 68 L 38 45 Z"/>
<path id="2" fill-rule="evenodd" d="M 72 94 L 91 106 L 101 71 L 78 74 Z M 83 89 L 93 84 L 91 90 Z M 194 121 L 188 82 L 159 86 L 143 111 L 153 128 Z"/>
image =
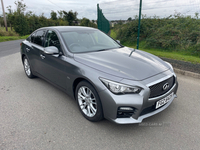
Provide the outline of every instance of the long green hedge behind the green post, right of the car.
<path id="1" fill-rule="evenodd" d="M 114 27 L 117 39 L 128 44 L 137 41 L 138 19 Z M 167 18 L 143 18 L 140 41 L 149 48 L 167 51 L 187 51 L 199 56 L 200 19 L 175 14 Z"/>

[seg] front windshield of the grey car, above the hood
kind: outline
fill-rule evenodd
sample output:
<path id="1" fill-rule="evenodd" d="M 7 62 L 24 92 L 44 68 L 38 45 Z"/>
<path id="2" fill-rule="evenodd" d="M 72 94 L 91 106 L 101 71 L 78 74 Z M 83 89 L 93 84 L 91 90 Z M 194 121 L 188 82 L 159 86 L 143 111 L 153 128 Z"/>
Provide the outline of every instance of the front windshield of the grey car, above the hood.
<path id="1" fill-rule="evenodd" d="M 94 52 L 121 47 L 112 38 L 98 30 L 62 32 L 62 37 L 73 53 Z"/>

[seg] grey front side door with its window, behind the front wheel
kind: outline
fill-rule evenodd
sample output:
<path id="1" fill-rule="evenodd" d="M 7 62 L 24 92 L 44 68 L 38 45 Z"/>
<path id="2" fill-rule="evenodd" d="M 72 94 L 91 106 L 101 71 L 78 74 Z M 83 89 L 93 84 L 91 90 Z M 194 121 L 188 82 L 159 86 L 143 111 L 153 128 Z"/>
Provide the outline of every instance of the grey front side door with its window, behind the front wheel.
<path id="1" fill-rule="evenodd" d="M 48 30 L 44 47 L 55 46 L 59 52 L 63 54 L 59 38 L 54 31 Z M 49 55 L 45 54 L 44 51 L 40 53 L 40 71 L 39 73 L 48 81 L 56 84 L 62 89 L 66 89 L 66 58 L 64 55 Z"/>

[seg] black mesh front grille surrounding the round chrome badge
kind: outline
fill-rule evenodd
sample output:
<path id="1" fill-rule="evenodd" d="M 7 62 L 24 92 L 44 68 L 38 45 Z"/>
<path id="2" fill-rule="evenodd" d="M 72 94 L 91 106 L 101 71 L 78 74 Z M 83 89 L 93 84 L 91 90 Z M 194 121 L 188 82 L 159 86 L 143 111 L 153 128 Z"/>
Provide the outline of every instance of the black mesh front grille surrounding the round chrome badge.
<path id="1" fill-rule="evenodd" d="M 163 90 L 163 86 L 166 83 L 169 84 L 169 87 L 166 90 Z M 155 85 L 150 86 L 149 88 L 150 88 L 151 93 L 150 93 L 149 98 L 154 98 L 154 97 L 161 96 L 161 95 L 167 93 L 172 88 L 174 83 L 175 83 L 175 77 L 172 76 L 172 77 L 170 77 L 170 78 L 168 78 L 168 79 L 166 79 L 166 80 L 164 80 L 160 83 L 157 83 Z"/>

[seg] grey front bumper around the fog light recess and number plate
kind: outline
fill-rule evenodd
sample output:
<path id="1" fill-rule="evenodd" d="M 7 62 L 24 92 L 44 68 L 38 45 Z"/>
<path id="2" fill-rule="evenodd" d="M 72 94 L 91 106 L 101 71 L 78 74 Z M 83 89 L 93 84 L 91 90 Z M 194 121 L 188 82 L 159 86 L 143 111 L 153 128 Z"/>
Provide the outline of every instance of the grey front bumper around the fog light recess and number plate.
<path id="1" fill-rule="evenodd" d="M 149 88 L 144 89 L 140 94 L 126 94 L 115 95 L 109 90 L 104 90 L 99 93 L 102 101 L 104 117 L 117 124 L 133 124 L 141 123 L 143 119 L 153 116 L 164 109 L 166 109 L 177 97 L 176 92 L 178 89 L 178 82 L 175 81 L 173 87 L 165 94 L 149 99 Z M 162 107 L 155 109 L 157 101 L 167 97 L 171 93 L 174 95 L 171 97 L 168 103 Z M 135 108 L 134 114 L 128 118 L 118 118 L 117 111 L 119 107 L 132 107 Z"/>

